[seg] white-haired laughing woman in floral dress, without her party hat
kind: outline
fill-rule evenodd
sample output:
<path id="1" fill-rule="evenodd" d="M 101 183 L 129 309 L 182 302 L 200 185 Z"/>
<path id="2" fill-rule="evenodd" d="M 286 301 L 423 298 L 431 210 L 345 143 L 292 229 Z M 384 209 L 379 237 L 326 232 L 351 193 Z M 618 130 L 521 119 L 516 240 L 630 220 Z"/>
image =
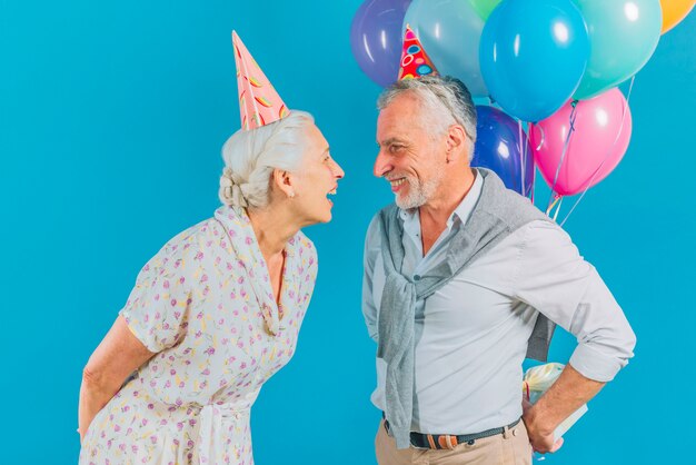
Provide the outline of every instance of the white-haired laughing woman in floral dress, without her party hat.
<path id="1" fill-rule="evenodd" d="M 331 219 L 344 172 L 297 110 L 223 158 L 225 206 L 142 268 L 89 358 L 81 464 L 253 463 L 249 408 L 292 356 L 317 275 L 300 228 Z"/>

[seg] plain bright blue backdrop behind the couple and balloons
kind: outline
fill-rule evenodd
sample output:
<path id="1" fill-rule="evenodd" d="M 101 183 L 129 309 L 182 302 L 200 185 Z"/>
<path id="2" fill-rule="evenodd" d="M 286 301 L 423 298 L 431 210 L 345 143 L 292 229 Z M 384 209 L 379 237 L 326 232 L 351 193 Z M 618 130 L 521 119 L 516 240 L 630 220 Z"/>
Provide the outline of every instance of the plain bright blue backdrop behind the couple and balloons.
<path id="1" fill-rule="evenodd" d="M 256 459 L 375 463 L 361 249 L 391 194 L 371 175 L 380 89 L 348 41 L 359 4 L 0 1 L 0 463 L 77 462 L 87 358 L 145 261 L 218 205 L 219 151 L 239 128 L 231 29 L 347 174 L 335 220 L 306 231 L 319 280 L 297 355 L 253 407 Z M 692 14 L 663 37 L 635 82 L 624 161 L 566 225 L 638 345 L 549 463 L 693 459 L 695 32 Z M 573 347 L 559 334 L 553 359 Z"/>

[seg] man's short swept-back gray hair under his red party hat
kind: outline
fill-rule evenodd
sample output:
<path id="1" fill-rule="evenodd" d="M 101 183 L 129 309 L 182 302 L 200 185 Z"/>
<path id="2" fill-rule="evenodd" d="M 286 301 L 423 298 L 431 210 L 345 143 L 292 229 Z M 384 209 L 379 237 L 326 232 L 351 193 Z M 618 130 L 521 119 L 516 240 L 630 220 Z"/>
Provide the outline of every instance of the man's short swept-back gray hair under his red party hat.
<path id="1" fill-rule="evenodd" d="M 460 125 L 469 139 L 469 161 L 476 142 L 476 106 L 471 92 L 459 79 L 449 76 L 424 76 L 392 83 L 377 99 L 384 110 L 401 93 L 410 92 L 420 102 L 421 123 L 432 137 L 447 132 L 450 125 Z"/>

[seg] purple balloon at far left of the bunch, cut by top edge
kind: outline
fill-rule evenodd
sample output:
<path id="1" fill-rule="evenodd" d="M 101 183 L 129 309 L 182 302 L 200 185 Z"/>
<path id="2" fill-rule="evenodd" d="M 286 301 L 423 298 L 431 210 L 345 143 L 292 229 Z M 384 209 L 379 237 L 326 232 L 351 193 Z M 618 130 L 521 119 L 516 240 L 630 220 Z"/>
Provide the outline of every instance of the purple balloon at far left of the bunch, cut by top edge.
<path id="1" fill-rule="evenodd" d="M 350 48 L 360 69 L 381 87 L 397 80 L 401 24 L 411 0 L 366 0 L 350 26 Z"/>

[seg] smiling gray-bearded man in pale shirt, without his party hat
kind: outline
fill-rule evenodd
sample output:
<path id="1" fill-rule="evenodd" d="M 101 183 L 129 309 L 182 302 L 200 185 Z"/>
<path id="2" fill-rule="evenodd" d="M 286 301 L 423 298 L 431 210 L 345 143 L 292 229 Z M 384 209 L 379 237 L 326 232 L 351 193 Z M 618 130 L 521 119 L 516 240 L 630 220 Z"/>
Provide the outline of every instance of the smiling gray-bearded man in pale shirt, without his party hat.
<path id="1" fill-rule="evenodd" d="M 476 109 L 460 81 L 399 81 L 378 108 L 375 175 L 396 205 L 376 215 L 365 248 L 377 459 L 529 464 L 533 448 L 560 447 L 554 429 L 627 364 L 635 336 L 568 235 L 469 166 Z M 523 415 L 521 363 L 546 358 L 554 324 L 578 346 Z"/>

